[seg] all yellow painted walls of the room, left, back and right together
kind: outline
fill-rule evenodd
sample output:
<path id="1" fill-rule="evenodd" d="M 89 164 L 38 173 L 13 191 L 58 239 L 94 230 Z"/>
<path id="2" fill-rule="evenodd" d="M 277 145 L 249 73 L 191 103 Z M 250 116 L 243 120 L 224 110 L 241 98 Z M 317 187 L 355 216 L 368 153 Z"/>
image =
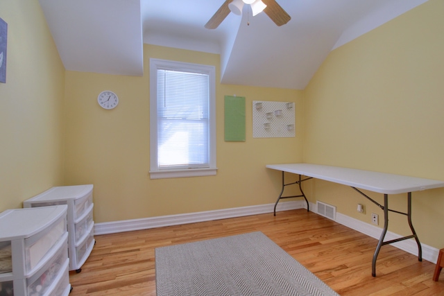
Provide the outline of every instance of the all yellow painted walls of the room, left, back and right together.
<path id="1" fill-rule="evenodd" d="M 97 223 L 275 201 L 265 164 L 314 162 L 444 180 L 444 3 L 430 0 L 332 51 L 305 91 L 216 84 L 214 177 L 149 178 L 149 58 L 212 64 L 219 55 L 144 46 L 143 77 L 66 71 L 37 1 L 3 0 L 7 83 L 0 84 L 0 211 L 51 186 L 94 184 Z M 99 92 L 119 95 L 102 110 Z M 223 96 L 246 97 L 245 142 L 223 140 Z M 253 139 L 252 101 L 296 103 L 296 138 Z M 302 146 L 303 144 L 303 146 Z M 302 153 L 303 148 L 303 153 Z M 311 202 L 370 222 L 375 205 L 347 186 L 305 184 Z M 368 193 L 381 200 L 375 193 Z M 444 247 L 444 191 L 413 193 L 423 243 Z M 402 209 L 403 199 L 393 199 Z M 366 205 L 366 214 L 356 204 Z M 404 217 L 402 217 L 404 220 Z M 404 221 L 390 229 L 406 232 Z"/>

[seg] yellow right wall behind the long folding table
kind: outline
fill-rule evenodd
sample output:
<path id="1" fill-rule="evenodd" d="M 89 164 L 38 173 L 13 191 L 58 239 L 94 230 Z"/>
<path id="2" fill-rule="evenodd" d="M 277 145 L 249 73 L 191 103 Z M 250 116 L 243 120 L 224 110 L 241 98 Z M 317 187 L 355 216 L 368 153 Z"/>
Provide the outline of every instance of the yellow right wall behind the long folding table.
<path id="1" fill-rule="evenodd" d="M 428 1 L 330 53 L 304 92 L 305 162 L 444 180 L 443 12 L 444 1 Z M 315 181 L 307 189 L 312 202 L 366 223 L 372 212 L 382 216 L 346 186 Z M 413 193 L 418 235 L 437 248 L 443 196 L 443 189 Z M 404 210 L 404 200 L 391 204 Z M 392 216 L 389 230 L 405 232 L 405 217 Z"/>

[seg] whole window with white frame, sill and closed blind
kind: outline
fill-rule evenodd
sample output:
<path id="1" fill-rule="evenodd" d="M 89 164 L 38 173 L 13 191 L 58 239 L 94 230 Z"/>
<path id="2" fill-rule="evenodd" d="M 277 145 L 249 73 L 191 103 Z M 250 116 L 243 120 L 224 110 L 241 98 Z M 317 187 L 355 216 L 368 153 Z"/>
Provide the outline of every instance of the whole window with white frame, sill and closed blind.
<path id="1" fill-rule="evenodd" d="M 150 59 L 151 179 L 216 175 L 212 66 Z"/>

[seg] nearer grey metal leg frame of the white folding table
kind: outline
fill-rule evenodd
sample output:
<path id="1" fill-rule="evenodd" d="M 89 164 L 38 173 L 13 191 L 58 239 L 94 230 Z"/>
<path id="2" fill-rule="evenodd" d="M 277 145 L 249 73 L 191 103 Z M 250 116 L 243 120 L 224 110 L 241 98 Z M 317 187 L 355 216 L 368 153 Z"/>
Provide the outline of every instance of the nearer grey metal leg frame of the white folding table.
<path id="1" fill-rule="evenodd" d="M 375 200 L 371 199 L 366 194 L 359 191 L 359 189 L 356 189 L 355 187 L 352 187 L 352 189 L 355 189 L 357 192 L 361 193 L 361 195 L 364 195 L 365 198 L 367 198 L 371 202 L 377 204 L 378 207 L 380 207 L 381 209 L 384 210 L 384 228 L 382 229 L 381 237 L 379 238 L 379 242 L 377 243 L 375 254 L 373 254 L 373 261 L 372 261 L 372 275 L 373 275 L 373 277 L 376 277 L 376 259 L 377 259 L 377 255 L 379 254 L 379 250 L 381 250 L 381 247 L 383 245 L 388 245 L 390 243 L 396 243 L 398 241 L 404 241 L 409 238 L 415 238 L 416 244 L 418 245 L 418 261 L 422 261 L 421 243 L 419 241 L 418 235 L 415 232 L 415 229 L 413 228 L 413 224 L 411 223 L 411 192 L 407 193 L 407 213 L 402 213 L 400 211 L 394 211 L 392 209 L 388 209 L 388 194 L 384 194 L 384 206 L 382 206 L 382 204 L 379 204 Z M 409 221 L 409 226 L 410 226 L 411 233 L 412 233 L 410 236 L 396 238 L 391 241 L 384 241 L 384 237 L 386 236 L 387 229 L 388 229 L 388 211 L 393 211 L 394 213 L 398 213 L 398 214 L 402 214 L 402 215 L 407 216 L 407 220 Z"/>

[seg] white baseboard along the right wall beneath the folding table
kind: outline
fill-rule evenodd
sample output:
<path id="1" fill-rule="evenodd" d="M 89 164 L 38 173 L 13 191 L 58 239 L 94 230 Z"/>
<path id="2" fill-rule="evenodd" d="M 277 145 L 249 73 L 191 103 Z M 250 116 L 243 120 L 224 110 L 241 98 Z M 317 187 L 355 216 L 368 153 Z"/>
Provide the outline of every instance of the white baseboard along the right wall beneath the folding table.
<path id="1" fill-rule="evenodd" d="M 316 204 L 312 204 L 310 202 L 309 206 L 310 209 L 312 209 L 312 211 L 316 213 Z M 354 229 L 357 232 L 361 232 L 361 234 L 366 234 L 370 237 L 376 238 L 377 240 L 379 240 L 379 237 L 381 237 L 382 234 L 382 228 L 379 228 L 375 225 L 371 225 L 370 223 L 362 222 L 361 220 L 357 220 L 349 216 L 345 216 L 344 214 L 341 213 L 336 212 L 335 221 L 348 228 Z M 399 234 L 387 231 L 384 241 L 391 241 L 393 239 L 400 237 L 402 236 L 400 236 Z M 398 243 L 392 243 L 391 245 L 393 245 L 393 247 L 398 247 L 398 249 L 401 249 L 407 253 L 418 256 L 418 245 L 416 245 L 416 241 L 413 240 L 413 238 L 405 241 L 399 241 Z M 436 247 L 431 247 L 429 245 L 425 245 L 424 243 L 421 243 L 421 248 L 422 248 L 422 259 L 432 263 L 436 263 L 436 260 L 438 259 L 439 250 L 436 249 Z"/>

